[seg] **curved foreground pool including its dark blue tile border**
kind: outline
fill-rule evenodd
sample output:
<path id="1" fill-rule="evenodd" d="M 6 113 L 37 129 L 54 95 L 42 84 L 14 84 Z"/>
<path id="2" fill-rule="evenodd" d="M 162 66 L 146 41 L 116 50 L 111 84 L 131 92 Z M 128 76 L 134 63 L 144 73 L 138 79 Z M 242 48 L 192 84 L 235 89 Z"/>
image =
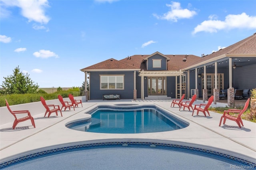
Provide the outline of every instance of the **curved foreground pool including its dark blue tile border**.
<path id="1" fill-rule="evenodd" d="M 54 148 L 0 164 L 34 169 L 230 169 L 255 168 L 250 162 L 214 150 L 162 142 L 98 142 Z"/>

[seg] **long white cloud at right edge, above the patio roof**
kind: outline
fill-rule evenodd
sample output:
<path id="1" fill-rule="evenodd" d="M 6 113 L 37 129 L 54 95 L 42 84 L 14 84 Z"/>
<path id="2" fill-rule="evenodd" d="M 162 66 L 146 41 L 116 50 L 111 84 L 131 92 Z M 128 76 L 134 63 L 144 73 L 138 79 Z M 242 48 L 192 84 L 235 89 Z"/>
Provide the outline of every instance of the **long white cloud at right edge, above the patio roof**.
<path id="1" fill-rule="evenodd" d="M 192 34 L 198 32 L 217 32 L 218 30 L 231 30 L 231 29 L 255 29 L 256 28 L 256 16 L 248 16 L 246 13 L 238 15 L 227 15 L 224 21 L 220 21 L 215 17 L 210 16 L 210 20 L 202 22 L 200 25 L 194 28 Z"/>

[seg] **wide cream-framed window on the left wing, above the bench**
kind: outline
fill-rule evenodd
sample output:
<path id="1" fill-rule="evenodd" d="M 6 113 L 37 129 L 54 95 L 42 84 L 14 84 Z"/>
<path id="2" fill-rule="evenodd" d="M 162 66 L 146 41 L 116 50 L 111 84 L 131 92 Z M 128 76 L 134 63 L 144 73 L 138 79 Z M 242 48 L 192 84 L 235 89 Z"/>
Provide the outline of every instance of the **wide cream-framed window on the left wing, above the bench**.
<path id="1" fill-rule="evenodd" d="M 100 75 L 100 89 L 124 89 L 124 75 Z"/>

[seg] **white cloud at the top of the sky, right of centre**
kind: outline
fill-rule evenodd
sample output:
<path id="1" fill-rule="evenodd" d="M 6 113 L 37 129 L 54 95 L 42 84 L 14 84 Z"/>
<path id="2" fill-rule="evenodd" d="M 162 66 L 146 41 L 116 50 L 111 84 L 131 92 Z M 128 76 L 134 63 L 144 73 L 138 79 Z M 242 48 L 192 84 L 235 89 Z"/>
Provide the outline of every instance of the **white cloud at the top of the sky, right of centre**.
<path id="1" fill-rule="evenodd" d="M 166 6 L 170 7 L 171 10 L 163 14 L 163 16 L 159 16 L 157 14 L 153 14 L 153 16 L 157 19 L 177 22 L 179 19 L 192 18 L 196 15 L 196 12 L 193 10 L 182 9 L 179 2 L 172 2 L 172 4 L 166 4 Z"/>

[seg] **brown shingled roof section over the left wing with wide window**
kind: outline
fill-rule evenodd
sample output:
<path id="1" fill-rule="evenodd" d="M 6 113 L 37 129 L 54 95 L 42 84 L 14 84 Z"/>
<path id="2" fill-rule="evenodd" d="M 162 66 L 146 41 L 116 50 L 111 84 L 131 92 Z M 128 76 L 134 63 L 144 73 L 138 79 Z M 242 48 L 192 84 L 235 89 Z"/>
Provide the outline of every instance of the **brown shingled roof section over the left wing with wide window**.
<path id="1" fill-rule="evenodd" d="M 91 65 L 89 67 L 85 67 L 83 69 L 80 69 L 81 71 L 100 71 L 100 70 L 119 70 L 119 69 L 129 69 L 129 70 L 137 70 L 136 67 L 133 67 L 131 65 L 128 65 L 126 63 L 123 63 L 121 61 L 118 61 L 116 59 L 107 59 L 105 61 L 102 61 L 100 63 Z"/>

